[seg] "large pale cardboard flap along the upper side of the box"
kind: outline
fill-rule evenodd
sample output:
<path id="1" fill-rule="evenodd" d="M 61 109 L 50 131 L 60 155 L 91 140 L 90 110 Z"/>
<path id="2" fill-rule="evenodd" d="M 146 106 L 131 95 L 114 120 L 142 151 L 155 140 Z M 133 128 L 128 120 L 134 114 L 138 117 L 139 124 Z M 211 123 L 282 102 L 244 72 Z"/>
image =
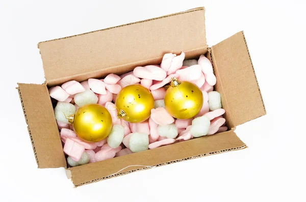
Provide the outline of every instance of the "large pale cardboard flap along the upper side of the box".
<path id="1" fill-rule="evenodd" d="M 164 53 L 207 48 L 205 9 L 196 8 L 38 44 L 49 85 L 120 65 L 158 59 Z M 135 67 L 134 67 L 135 68 Z M 123 72 L 120 72 L 123 73 Z"/>

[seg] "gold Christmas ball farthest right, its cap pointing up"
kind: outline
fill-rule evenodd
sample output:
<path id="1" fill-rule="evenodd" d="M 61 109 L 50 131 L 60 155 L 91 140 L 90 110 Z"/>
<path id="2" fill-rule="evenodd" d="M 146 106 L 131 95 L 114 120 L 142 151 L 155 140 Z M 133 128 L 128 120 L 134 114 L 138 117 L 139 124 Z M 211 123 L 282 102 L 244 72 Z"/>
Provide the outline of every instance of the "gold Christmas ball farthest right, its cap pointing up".
<path id="1" fill-rule="evenodd" d="M 164 98 L 165 108 L 176 119 L 190 119 L 201 110 L 203 94 L 195 84 L 172 78 Z"/>

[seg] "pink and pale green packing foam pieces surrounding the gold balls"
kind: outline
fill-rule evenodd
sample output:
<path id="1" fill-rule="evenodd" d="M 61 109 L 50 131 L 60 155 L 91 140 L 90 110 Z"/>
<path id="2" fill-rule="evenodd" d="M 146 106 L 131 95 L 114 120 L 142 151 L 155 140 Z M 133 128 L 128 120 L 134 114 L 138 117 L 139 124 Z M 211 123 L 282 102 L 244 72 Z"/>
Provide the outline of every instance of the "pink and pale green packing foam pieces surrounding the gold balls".
<path id="1" fill-rule="evenodd" d="M 55 115 L 69 166 L 129 155 L 226 131 L 225 119 L 222 117 L 225 110 L 221 108 L 220 94 L 213 91 L 215 75 L 210 61 L 204 55 L 199 60 L 184 58 L 184 52 L 180 55 L 167 53 L 161 65 L 139 66 L 122 75 L 111 73 L 104 79 L 90 78 L 81 83 L 72 80 L 50 88 L 50 97 L 58 101 Z M 203 106 L 194 118 L 176 120 L 165 109 L 164 85 L 172 77 L 190 81 L 202 91 Z M 114 104 L 116 96 L 124 86 L 131 84 L 145 86 L 155 99 L 150 118 L 141 123 L 117 119 L 118 111 Z M 74 133 L 66 117 L 79 107 L 93 103 L 107 108 L 113 127 L 107 138 L 89 143 Z"/>

